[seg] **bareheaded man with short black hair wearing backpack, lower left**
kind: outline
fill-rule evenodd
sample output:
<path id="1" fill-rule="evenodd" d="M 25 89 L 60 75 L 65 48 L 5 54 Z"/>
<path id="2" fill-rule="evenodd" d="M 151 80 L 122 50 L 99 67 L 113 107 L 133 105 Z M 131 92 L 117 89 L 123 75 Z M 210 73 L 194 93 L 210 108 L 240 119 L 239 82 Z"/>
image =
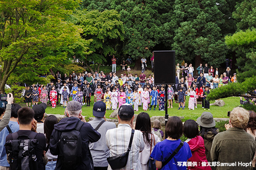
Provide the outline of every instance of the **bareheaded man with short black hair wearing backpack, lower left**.
<path id="1" fill-rule="evenodd" d="M 18 110 L 20 130 L 6 137 L 5 150 L 10 170 L 44 170 L 42 159 L 46 145 L 44 134 L 37 133 L 34 111 L 29 107 Z"/>

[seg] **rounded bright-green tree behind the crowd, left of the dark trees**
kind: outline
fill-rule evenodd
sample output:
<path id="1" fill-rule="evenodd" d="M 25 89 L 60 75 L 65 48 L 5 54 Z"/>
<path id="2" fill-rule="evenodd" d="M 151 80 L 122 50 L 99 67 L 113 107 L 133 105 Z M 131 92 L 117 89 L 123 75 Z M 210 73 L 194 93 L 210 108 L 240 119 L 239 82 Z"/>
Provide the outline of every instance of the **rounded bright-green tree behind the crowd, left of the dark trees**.
<path id="1" fill-rule="evenodd" d="M 123 22 L 120 21 L 120 14 L 115 10 L 78 10 L 73 14 L 73 23 L 80 25 L 83 29 L 82 38 L 90 39 L 89 55 L 76 55 L 81 61 L 84 61 L 91 72 L 89 62 L 103 64 L 105 56 L 115 54 L 116 42 L 123 41 Z"/>

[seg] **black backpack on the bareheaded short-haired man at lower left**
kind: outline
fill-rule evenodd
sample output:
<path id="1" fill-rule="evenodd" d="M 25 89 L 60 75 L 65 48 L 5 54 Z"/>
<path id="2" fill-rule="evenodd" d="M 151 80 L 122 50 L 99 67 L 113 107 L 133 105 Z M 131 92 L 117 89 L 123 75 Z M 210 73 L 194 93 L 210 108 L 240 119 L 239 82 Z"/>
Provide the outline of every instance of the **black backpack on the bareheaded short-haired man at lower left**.
<path id="1" fill-rule="evenodd" d="M 5 146 L 9 146 L 7 151 L 10 159 L 10 170 L 37 170 L 37 156 L 35 155 L 35 147 L 38 140 L 34 139 L 37 133 L 31 132 L 29 135 L 20 135 L 12 133 L 13 140 L 8 140 Z"/>

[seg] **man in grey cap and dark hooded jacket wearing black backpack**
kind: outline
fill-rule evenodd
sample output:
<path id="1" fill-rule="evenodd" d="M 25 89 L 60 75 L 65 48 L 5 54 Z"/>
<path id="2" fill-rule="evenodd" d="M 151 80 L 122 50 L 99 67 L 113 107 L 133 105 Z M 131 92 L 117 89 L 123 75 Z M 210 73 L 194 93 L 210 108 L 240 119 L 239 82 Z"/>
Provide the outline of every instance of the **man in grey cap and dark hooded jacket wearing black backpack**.
<path id="1" fill-rule="evenodd" d="M 55 170 L 93 170 L 89 142 L 97 142 L 101 135 L 86 123 L 78 101 L 69 101 L 66 118 L 55 124 L 50 139 L 50 152 L 58 155 Z"/>

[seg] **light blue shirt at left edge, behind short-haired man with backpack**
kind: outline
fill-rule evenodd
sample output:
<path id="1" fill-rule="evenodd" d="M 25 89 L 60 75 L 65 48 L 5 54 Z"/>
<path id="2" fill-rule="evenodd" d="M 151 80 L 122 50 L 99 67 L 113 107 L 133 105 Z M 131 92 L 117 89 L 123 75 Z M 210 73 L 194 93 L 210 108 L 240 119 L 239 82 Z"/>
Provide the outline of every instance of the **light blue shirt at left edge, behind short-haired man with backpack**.
<path id="1" fill-rule="evenodd" d="M 13 133 L 17 132 L 20 129 L 18 122 L 10 121 L 8 125 Z M 8 164 L 7 162 L 7 156 L 5 151 L 5 138 L 8 134 L 9 132 L 6 127 L 0 132 L 0 166 L 3 167 L 10 167 L 10 164 Z"/>

